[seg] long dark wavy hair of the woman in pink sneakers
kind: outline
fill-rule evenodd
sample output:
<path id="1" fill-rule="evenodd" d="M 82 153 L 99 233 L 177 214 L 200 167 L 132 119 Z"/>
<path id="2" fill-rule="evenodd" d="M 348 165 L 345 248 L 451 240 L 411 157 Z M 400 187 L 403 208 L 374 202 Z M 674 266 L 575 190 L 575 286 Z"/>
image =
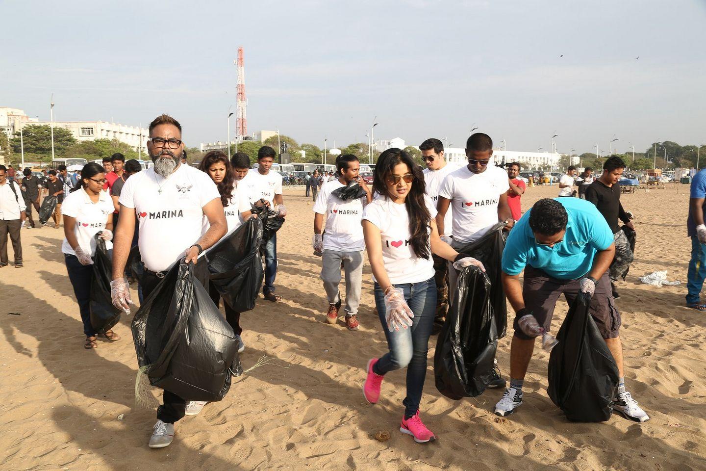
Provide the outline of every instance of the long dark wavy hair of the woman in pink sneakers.
<path id="1" fill-rule="evenodd" d="M 412 155 L 402 149 L 391 148 L 385 150 L 378 157 L 373 177 L 373 191 L 385 197 L 390 197 L 388 184 L 385 179 L 393 174 L 395 165 L 405 164 L 414 176 L 412 189 L 405 198 L 405 208 L 409 215 L 409 243 L 412 244 L 414 254 L 419 258 L 431 258 L 429 246 L 429 229 L 431 228 L 431 215 L 424 201 L 424 174 L 421 167 L 417 166 Z"/>

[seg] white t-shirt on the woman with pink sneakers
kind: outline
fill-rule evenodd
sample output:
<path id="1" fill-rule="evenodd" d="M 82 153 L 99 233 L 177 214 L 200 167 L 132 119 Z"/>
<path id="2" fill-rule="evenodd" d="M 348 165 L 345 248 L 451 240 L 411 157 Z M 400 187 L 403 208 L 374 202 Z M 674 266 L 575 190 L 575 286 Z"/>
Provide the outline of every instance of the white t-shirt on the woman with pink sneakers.
<path id="1" fill-rule="evenodd" d="M 436 217 L 436 208 L 429 196 L 424 196 L 431 217 Z M 366 205 L 363 219 L 372 222 L 378 229 L 383 243 L 383 263 L 390 283 L 418 283 L 434 275 L 434 261 L 418 258 L 409 245 L 409 215 L 403 204 L 395 204 L 387 197 L 380 197 Z M 373 281 L 375 275 L 373 275 Z"/>

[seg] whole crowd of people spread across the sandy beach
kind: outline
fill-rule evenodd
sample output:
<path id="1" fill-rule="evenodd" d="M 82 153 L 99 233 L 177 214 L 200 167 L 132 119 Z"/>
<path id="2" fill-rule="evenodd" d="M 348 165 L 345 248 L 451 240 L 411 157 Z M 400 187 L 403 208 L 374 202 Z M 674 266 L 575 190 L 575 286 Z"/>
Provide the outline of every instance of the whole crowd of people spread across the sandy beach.
<path id="1" fill-rule="evenodd" d="M 97 333 L 90 323 L 90 266 L 100 237 L 112 257 L 111 297 L 115 306 L 129 312 L 128 255 L 138 246 L 144 263 L 138 297 L 148 297 L 170 266 L 179 261 L 196 263 L 214 246 L 251 217 L 258 208 L 269 208 L 287 217 L 282 176 L 271 167 L 275 150 L 263 146 L 257 165 L 249 156 L 228 158 L 215 150 L 197 168 L 186 165 L 181 125 L 167 115 L 149 126 L 148 153 L 154 162 L 143 170 L 136 160 L 120 154 L 90 163 L 73 179 L 66 169 L 49 171 L 47 181 L 25 173 L 23 190 L 9 181 L 0 166 L 0 256 L 7 265 L 7 234 L 15 248 L 16 266 L 22 266 L 19 231 L 28 204 L 37 209 L 42 189 L 59 200 L 58 227 L 64 216 L 64 253 L 69 279 L 76 295 L 85 334 L 84 347 L 97 347 L 97 335 L 119 340 L 112 330 Z M 493 142 L 475 133 L 466 143 L 467 165 L 445 159 L 443 144 L 429 138 L 421 145 L 422 169 L 405 150 L 391 148 L 378 158 L 373 183 L 360 175 L 355 155 L 337 157 L 331 175 L 315 171 L 307 182 L 313 204 L 312 249 L 321 256 L 321 281 L 327 304 L 322 309 L 330 324 L 342 321 L 349 331 L 359 330 L 364 252 L 373 273 L 375 308 L 388 342 L 388 352 L 369 359 L 364 378 L 364 398 L 376 404 L 383 394 L 383 379 L 406 369 L 407 395 L 400 431 L 426 443 L 435 434 L 421 420 L 421 398 L 426 376 L 429 338 L 441 330 L 457 292 L 459 270 L 483 263 L 463 248 L 502 223 L 507 234 L 502 254 L 502 282 L 515 311 L 510 347 L 508 381 L 496 366 L 489 387 L 506 387 L 493 411 L 509 415 L 522 405 L 522 387 L 534 349 L 534 340 L 551 329 L 551 318 L 563 293 L 567 302 L 590 298 L 590 314 L 613 354 L 620 381 L 614 410 L 635 422 L 649 419 L 626 388 L 621 316 L 616 306 L 616 282 L 626 273 L 633 254 L 626 229 L 634 231 L 630 213 L 620 203 L 618 180 L 626 167 L 618 157 L 604 163 L 600 177 L 585 169 L 579 198 L 573 187 L 574 167 L 559 182 L 561 198 L 544 198 L 522 214 L 521 198 L 527 186 L 519 178 L 521 166 L 505 169 L 493 162 Z M 704 172 L 700 172 L 700 175 Z M 565 178 L 566 177 L 566 178 Z M 588 182 L 588 183 L 587 183 Z M 585 188 L 582 188 L 584 187 Z M 693 257 L 689 266 L 688 304 L 706 310 L 698 294 L 706 278 L 706 225 L 703 205 L 706 176 L 692 188 L 690 236 Z M 31 222 L 30 225 L 33 225 Z M 623 227 L 619 222 L 623 222 Z M 280 302 L 276 293 L 277 232 L 263 242 L 263 298 Z M 524 278 L 520 282 L 520 274 Z M 340 282 L 345 279 L 345 297 Z M 220 294 L 208 280 L 201 280 L 218 306 Z M 241 313 L 225 304 L 227 322 L 240 335 Z M 341 313 L 342 311 L 342 313 Z M 240 340 L 239 352 L 245 350 Z M 174 424 L 184 415 L 198 414 L 206 403 L 189 401 L 164 390 L 149 446 L 162 448 L 174 439 Z"/>

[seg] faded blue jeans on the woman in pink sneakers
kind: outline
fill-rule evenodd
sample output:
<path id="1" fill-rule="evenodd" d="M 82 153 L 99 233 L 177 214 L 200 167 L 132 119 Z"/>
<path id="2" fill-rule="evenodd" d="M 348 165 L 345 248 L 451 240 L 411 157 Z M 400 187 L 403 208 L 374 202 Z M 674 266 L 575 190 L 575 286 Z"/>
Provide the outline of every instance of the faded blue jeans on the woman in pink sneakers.
<path id="1" fill-rule="evenodd" d="M 376 283 L 375 304 L 390 352 L 378 359 L 373 371 L 384 375 L 388 371 L 407 366 L 407 397 L 402 404 L 405 405 L 405 417 L 412 417 L 419 410 L 421 390 L 424 388 L 426 352 L 429 350 L 429 335 L 434 326 L 436 311 L 436 282 L 432 277 L 426 281 L 395 287 L 404 290 L 405 301 L 414 312 L 412 327 L 400 328 L 399 332 L 388 330 L 388 323 L 385 321 L 385 294 Z"/>

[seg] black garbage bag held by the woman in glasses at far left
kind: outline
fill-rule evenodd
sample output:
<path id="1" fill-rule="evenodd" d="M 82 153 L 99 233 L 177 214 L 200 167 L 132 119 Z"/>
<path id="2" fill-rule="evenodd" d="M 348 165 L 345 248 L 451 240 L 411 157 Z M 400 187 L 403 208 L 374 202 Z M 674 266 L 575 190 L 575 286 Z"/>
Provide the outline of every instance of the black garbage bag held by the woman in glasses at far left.
<path id="1" fill-rule="evenodd" d="M 95 257 L 90 282 L 90 323 L 97 333 L 106 333 L 120 321 L 120 309 L 110 299 L 110 281 L 113 279 L 113 261 L 108 255 L 100 232 L 95 234 Z"/>

